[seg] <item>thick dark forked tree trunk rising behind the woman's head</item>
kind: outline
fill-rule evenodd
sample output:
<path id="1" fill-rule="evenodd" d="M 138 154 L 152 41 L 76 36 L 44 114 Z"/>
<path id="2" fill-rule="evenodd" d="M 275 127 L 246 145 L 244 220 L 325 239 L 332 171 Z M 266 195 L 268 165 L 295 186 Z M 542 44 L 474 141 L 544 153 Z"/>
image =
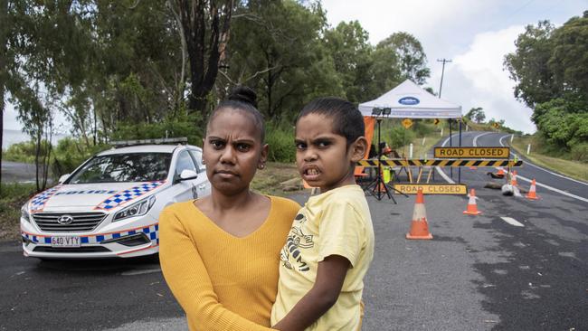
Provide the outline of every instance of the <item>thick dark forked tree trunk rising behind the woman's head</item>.
<path id="1" fill-rule="evenodd" d="M 173 0 L 190 63 L 188 108 L 204 112 L 229 41 L 233 0 Z M 208 38 L 208 41 L 206 41 Z"/>

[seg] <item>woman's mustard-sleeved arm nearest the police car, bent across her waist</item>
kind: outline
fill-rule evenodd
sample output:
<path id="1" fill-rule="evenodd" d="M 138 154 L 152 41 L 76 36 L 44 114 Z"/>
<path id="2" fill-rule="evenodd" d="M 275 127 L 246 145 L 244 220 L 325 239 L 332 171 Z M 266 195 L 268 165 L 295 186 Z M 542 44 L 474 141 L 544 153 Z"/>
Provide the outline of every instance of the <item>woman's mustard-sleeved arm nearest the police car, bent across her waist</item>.
<path id="1" fill-rule="evenodd" d="M 170 211 L 163 211 L 159 220 L 161 270 L 180 306 L 199 330 L 270 330 L 223 307 L 184 225 Z"/>

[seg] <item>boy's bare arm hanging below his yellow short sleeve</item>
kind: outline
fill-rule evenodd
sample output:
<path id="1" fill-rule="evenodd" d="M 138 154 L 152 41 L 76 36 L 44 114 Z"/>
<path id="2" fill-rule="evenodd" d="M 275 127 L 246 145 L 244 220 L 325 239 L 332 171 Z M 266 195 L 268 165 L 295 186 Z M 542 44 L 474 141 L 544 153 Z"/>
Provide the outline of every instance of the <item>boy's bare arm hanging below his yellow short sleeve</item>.
<path id="1" fill-rule="evenodd" d="M 349 260 L 339 255 L 329 255 L 318 262 L 317 279 L 308 293 L 289 311 L 278 324 L 272 326 L 281 331 L 304 330 L 335 305 L 347 270 Z"/>

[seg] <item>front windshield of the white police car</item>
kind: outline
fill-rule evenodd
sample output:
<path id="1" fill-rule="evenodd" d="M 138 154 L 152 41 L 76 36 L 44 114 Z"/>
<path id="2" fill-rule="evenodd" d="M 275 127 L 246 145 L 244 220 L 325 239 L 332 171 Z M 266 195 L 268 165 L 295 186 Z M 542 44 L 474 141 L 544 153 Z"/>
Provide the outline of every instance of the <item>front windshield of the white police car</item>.
<path id="1" fill-rule="evenodd" d="M 171 153 L 129 153 L 95 156 L 67 184 L 149 182 L 165 180 Z"/>

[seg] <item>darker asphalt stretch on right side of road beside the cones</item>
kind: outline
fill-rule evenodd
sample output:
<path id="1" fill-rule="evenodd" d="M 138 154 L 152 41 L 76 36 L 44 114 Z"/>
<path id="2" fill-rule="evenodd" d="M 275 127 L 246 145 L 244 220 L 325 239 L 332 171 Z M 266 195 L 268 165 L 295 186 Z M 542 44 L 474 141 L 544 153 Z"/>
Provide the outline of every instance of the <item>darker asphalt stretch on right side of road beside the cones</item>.
<path id="1" fill-rule="evenodd" d="M 476 139 L 477 146 L 500 146 L 507 142 L 503 137 L 469 132 L 462 145 L 474 146 Z M 461 171 L 461 182 L 477 190 L 479 208 L 486 212 L 475 222 L 492 220 L 478 227 L 493 232 L 498 243 L 493 250 L 502 258 L 472 265 L 492 285 L 479 288 L 486 297 L 483 307 L 500 317 L 499 329 L 588 329 L 588 185 L 527 164 L 519 175 L 552 188 L 537 187 L 543 199 L 528 201 L 484 189 L 488 171 L 496 172 L 483 167 Z"/>

